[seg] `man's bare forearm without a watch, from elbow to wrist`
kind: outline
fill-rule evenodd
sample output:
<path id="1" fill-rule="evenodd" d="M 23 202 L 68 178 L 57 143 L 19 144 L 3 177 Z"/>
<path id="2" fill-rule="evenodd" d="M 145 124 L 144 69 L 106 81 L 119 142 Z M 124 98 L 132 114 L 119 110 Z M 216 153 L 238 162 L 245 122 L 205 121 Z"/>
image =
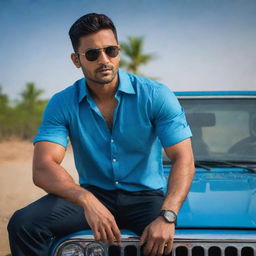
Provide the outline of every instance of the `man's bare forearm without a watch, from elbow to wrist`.
<path id="1" fill-rule="evenodd" d="M 54 161 L 34 163 L 33 181 L 47 193 L 60 196 L 82 207 L 89 201 L 91 193 L 76 184 L 71 175 Z"/>

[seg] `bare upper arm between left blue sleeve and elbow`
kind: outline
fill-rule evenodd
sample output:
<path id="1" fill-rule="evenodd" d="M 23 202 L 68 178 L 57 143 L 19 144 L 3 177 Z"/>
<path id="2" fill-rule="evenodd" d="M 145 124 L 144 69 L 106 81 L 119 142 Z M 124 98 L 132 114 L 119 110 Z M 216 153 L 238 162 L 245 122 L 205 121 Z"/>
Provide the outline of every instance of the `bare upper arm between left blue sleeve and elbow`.
<path id="1" fill-rule="evenodd" d="M 39 141 L 34 147 L 33 167 L 47 161 L 54 161 L 60 164 L 65 156 L 65 152 L 65 147 L 60 144 L 49 141 Z"/>

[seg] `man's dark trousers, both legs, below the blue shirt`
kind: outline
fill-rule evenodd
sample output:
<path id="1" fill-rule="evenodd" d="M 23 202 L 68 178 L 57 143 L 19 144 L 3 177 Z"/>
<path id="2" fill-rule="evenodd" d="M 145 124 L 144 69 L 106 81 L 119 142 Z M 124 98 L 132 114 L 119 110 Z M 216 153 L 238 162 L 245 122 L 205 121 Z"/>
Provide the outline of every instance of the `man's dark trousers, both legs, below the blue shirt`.
<path id="1" fill-rule="evenodd" d="M 120 229 L 141 235 L 159 216 L 161 190 L 127 192 L 87 187 L 113 214 Z M 16 211 L 8 224 L 12 256 L 47 256 L 55 239 L 89 229 L 83 208 L 48 194 Z"/>

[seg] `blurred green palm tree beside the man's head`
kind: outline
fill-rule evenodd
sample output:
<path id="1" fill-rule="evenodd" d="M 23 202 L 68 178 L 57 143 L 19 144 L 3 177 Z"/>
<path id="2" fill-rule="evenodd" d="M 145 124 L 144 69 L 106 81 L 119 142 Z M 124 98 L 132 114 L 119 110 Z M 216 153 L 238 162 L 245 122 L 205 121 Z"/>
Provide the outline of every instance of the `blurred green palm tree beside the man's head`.
<path id="1" fill-rule="evenodd" d="M 139 67 L 155 58 L 153 54 L 143 53 L 143 45 L 143 37 L 129 37 L 128 43 L 121 43 L 121 50 L 126 59 L 120 61 L 120 67 L 124 67 L 128 72 L 142 75 L 139 72 Z"/>

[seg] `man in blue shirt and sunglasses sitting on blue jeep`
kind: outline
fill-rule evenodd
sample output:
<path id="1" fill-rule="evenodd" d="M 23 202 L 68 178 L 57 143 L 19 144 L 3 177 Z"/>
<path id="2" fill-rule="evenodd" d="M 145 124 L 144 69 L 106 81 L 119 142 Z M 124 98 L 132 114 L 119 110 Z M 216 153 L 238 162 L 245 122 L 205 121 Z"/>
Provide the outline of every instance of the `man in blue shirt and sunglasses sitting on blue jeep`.
<path id="1" fill-rule="evenodd" d="M 12 255 L 48 255 L 55 238 L 89 228 L 109 244 L 128 228 L 141 235 L 145 255 L 168 254 L 194 174 L 184 112 L 166 86 L 118 69 L 120 47 L 107 16 L 87 14 L 69 35 L 85 78 L 46 107 L 33 180 L 48 195 L 13 215 Z M 80 185 L 61 167 L 68 136 Z M 160 142 L 173 163 L 165 197 Z"/>

